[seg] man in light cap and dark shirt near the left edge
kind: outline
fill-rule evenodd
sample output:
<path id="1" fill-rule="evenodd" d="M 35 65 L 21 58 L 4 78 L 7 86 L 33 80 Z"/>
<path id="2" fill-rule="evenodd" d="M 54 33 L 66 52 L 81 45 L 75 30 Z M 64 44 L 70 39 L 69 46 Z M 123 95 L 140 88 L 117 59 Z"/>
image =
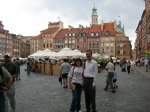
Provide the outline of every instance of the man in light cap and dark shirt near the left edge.
<path id="1" fill-rule="evenodd" d="M 4 63 L 2 63 L 2 66 L 5 67 L 8 70 L 8 72 L 13 77 L 13 81 L 15 81 L 16 74 L 17 74 L 17 67 L 11 61 L 11 55 L 10 54 L 8 54 L 8 53 L 5 54 L 5 56 L 4 56 Z M 12 111 L 15 112 L 16 101 L 15 101 L 15 84 L 14 83 L 12 84 L 12 86 L 10 87 L 10 89 L 8 91 L 6 91 L 6 96 L 8 97 L 8 98 L 6 98 L 6 109 L 8 109 L 8 107 L 7 107 L 8 106 L 7 99 L 9 99 Z M 8 110 L 6 110 L 6 112 L 7 111 Z"/>

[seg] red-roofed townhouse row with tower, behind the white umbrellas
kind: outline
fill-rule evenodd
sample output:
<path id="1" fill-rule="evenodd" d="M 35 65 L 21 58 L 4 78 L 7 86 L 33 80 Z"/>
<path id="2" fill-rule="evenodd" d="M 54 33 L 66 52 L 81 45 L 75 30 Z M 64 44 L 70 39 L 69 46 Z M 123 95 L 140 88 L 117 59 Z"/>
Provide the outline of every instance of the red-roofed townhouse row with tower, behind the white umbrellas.
<path id="1" fill-rule="evenodd" d="M 93 53 L 107 55 L 108 57 L 130 59 L 132 46 L 124 33 L 121 22 L 119 24 L 116 21 L 99 24 L 97 9 L 94 7 L 92 11 L 89 27 L 79 25 L 78 28 L 74 28 L 69 25 L 68 28 L 63 28 L 63 22 L 61 21 L 49 22 L 48 28 L 40 32 L 42 47 L 38 47 L 39 49 L 36 49 L 36 51 L 48 48 L 58 52 L 64 47 L 69 47 L 81 52 L 91 49 Z M 33 37 L 32 45 L 36 45 L 35 40 L 39 41 L 39 35 Z"/>

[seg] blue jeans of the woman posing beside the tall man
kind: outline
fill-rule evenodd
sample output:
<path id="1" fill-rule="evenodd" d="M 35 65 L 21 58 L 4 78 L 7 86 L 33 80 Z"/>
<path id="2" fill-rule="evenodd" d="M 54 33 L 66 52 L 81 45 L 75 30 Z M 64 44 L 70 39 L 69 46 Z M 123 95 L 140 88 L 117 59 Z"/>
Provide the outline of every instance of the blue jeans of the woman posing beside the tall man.
<path id="1" fill-rule="evenodd" d="M 72 90 L 72 102 L 70 112 L 79 112 L 81 109 L 81 93 L 82 93 L 82 86 L 76 85 L 75 90 Z"/>

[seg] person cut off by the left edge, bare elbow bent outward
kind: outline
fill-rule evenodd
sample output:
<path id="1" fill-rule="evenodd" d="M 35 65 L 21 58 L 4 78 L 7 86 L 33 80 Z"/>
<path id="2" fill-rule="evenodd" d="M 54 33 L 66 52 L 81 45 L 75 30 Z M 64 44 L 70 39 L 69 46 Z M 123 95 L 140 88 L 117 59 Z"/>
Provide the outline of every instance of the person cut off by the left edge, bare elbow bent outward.
<path id="1" fill-rule="evenodd" d="M 13 78 L 10 73 L 4 67 L 0 67 L 0 112 L 6 112 L 4 92 L 11 87 L 12 83 Z"/>

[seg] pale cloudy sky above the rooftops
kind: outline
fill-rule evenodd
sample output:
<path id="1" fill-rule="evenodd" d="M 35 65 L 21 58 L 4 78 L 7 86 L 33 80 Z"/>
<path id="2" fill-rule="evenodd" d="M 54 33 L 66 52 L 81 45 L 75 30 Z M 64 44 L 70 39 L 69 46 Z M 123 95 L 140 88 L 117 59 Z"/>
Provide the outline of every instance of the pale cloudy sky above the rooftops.
<path id="1" fill-rule="evenodd" d="M 134 48 L 144 0 L 0 0 L 0 21 L 10 33 L 36 36 L 49 22 L 61 20 L 64 28 L 90 26 L 94 6 L 99 24 L 121 21 Z"/>

